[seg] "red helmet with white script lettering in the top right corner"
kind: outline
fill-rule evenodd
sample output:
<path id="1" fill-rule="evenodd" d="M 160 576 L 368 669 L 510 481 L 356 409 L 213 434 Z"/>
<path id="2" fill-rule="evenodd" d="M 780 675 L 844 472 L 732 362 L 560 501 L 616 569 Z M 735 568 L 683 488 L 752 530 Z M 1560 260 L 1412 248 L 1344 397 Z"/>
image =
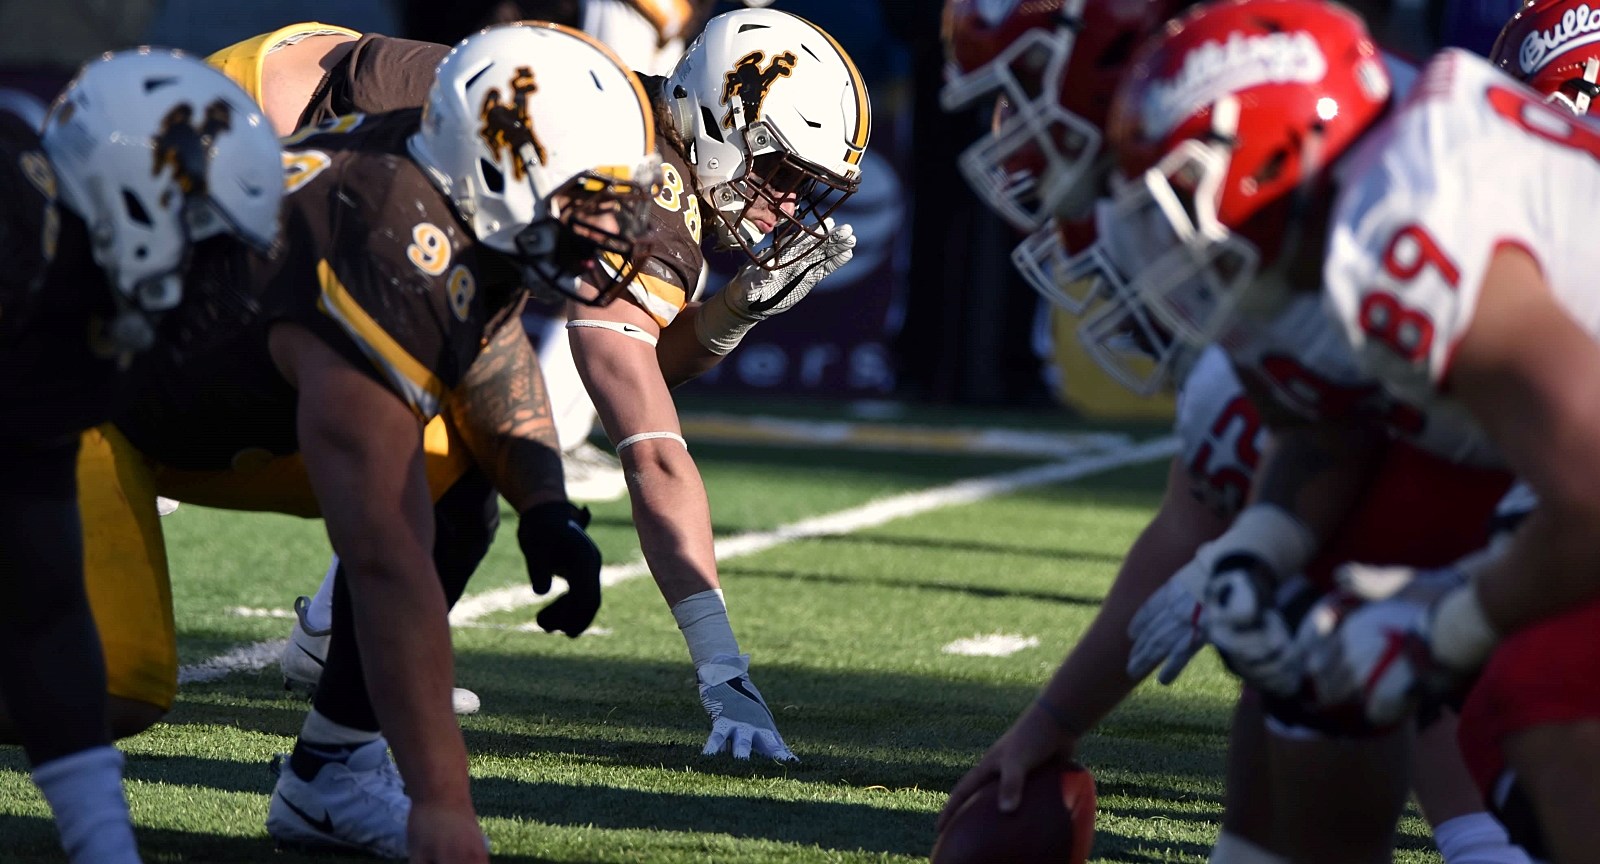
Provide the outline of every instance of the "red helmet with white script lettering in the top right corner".
<path id="1" fill-rule="evenodd" d="M 1600 8 L 1526 0 L 1501 29 L 1490 61 L 1573 114 L 1589 114 L 1589 101 L 1600 96 Z"/>

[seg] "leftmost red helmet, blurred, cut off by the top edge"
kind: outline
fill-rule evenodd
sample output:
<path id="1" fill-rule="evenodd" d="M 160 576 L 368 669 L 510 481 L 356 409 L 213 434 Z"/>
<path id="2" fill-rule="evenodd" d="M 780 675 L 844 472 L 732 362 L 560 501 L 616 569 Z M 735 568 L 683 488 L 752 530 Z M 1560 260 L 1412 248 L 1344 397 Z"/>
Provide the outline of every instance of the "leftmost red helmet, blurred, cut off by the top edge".
<path id="1" fill-rule="evenodd" d="M 1107 162 L 1117 78 L 1179 0 L 946 0 L 946 110 L 998 96 L 994 133 L 962 154 L 973 189 L 1019 230 L 1082 216 Z"/>

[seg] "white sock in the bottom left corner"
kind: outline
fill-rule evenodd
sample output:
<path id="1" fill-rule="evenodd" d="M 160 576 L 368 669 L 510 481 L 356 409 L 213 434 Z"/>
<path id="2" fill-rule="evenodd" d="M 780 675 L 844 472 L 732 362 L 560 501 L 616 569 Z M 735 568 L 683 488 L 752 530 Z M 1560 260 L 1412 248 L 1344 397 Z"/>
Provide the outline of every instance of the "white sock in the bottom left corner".
<path id="1" fill-rule="evenodd" d="M 72 864 L 139 864 L 128 800 L 122 795 L 122 750 L 101 746 L 34 768 L 50 802 L 61 848 Z"/>

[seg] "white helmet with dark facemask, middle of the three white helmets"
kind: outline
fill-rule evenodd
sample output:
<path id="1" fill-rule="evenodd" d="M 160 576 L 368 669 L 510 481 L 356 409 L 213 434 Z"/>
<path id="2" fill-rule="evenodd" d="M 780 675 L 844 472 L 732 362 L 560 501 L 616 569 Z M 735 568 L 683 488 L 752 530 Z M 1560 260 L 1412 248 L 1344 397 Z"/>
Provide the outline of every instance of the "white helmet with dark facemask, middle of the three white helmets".
<path id="1" fill-rule="evenodd" d="M 530 288 L 603 306 L 632 278 L 661 174 L 656 125 L 638 78 L 594 38 L 523 21 L 461 40 L 410 150 Z M 594 224 L 602 214 L 618 227 Z"/>

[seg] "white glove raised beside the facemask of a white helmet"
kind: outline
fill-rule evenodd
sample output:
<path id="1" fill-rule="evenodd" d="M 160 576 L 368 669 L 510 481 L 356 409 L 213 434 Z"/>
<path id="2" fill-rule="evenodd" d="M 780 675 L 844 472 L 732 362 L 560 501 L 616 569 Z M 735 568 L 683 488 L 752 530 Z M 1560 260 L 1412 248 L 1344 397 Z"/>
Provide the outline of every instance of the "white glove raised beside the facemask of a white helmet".
<path id="1" fill-rule="evenodd" d="M 728 354 L 757 322 L 787 312 L 805 299 L 816 283 L 838 270 L 856 254 L 854 229 L 824 221 L 827 237 L 794 256 L 779 258 L 771 270 L 746 264 L 738 275 L 706 301 L 694 318 L 694 334 L 707 350 Z M 779 254 L 771 250 L 768 256 Z"/>

